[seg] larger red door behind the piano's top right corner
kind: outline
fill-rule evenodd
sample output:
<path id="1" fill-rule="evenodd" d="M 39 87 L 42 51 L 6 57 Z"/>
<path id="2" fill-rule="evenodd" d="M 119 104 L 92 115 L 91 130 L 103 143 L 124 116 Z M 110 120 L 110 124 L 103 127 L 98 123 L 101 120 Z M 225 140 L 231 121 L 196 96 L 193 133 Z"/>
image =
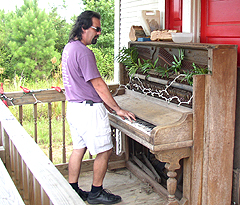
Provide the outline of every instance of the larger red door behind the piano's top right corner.
<path id="1" fill-rule="evenodd" d="M 238 45 L 240 66 L 240 0 L 201 0 L 200 41 Z"/>

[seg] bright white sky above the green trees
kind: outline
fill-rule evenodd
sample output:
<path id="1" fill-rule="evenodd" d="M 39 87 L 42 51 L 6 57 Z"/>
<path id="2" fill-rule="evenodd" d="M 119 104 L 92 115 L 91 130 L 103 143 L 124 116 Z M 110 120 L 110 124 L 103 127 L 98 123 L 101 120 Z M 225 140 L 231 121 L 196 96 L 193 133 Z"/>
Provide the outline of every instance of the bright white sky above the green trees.
<path id="1" fill-rule="evenodd" d="M 0 0 L 0 9 L 7 11 L 15 11 L 16 6 L 20 8 L 23 5 L 23 0 Z M 41 9 L 45 9 L 46 12 L 50 11 L 51 6 L 62 5 L 62 0 L 38 0 L 38 6 Z M 60 16 L 70 22 L 70 18 L 75 14 L 81 13 L 82 3 L 81 0 L 66 0 L 66 9 L 58 9 Z"/>

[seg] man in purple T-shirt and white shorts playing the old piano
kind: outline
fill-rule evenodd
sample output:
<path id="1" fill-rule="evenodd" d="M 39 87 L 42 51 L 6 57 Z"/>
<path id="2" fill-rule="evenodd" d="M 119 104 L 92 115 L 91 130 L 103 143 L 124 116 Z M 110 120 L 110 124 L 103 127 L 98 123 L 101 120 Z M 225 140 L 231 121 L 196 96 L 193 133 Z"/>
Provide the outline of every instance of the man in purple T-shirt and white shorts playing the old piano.
<path id="1" fill-rule="evenodd" d="M 121 197 L 103 189 L 103 179 L 113 147 L 106 108 L 130 121 L 135 120 L 135 116 L 122 110 L 115 102 L 100 76 L 93 52 L 86 47 L 95 44 L 100 34 L 100 15 L 93 11 L 81 13 L 62 54 L 63 83 L 68 101 L 67 120 L 73 140 L 69 183 L 90 204 L 115 204 L 121 201 Z M 81 162 L 86 149 L 92 155 L 97 154 L 89 193 L 78 187 Z"/>

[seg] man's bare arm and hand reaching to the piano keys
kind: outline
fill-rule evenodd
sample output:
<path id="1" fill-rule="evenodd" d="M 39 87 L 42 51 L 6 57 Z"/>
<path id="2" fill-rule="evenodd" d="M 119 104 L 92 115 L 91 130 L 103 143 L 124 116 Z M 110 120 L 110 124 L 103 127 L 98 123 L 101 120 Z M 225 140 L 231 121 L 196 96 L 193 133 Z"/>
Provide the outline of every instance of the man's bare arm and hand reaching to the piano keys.
<path id="1" fill-rule="evenodd" d="M 122 119 L 125 119 L 126 117 L 131 122 L 132 122 L 132 119 L 136 120 L 135 115 L 132 112 L 123 110 L 119 107 L 117 102 L 112 97 L 107 84 L 103 81 L 101 77 L 92 79 L 91 83 L 94 89 L 96 90 L 96 92 L 98 93 L 98 95 L 100 96 L 100 98 L 103 100 L 103 102 L 107 104 L 107 106 L 109 106 L 111 109 L 115 110 L 117 115 L 122 117 Z"/>

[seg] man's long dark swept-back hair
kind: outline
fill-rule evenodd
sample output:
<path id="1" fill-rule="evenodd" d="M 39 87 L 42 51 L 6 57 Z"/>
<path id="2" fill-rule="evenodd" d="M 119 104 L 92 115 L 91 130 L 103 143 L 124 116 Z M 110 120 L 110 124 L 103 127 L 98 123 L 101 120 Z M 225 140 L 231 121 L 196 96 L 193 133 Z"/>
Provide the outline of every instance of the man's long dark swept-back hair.
<path id="1" fill-rule="evenodd" d="M 82 33 L 83 29 L 88 29 L 92 26 L 92 18 L 98 18 L 101 19 L 101 16 L 99 13 L 95 11 L 84 11 L 82 12 L 78 17 L 75 22 L 75 24 L 72 27 L 72 31 L 70 32 L 69 35 L 69 40 L 74 40 L 75 37 L 78 38 L 78 40 L 82 40 Z"/>

